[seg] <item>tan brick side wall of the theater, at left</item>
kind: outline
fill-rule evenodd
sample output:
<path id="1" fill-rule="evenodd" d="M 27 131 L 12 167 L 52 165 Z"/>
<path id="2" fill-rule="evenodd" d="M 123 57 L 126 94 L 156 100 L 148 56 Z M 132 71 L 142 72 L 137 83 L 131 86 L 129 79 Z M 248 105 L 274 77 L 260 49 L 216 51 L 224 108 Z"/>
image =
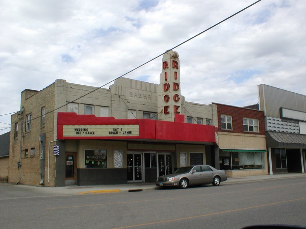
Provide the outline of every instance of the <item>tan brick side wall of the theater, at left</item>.
<path id="1" fill-rule="evenodd" d="M 31 94 L 31 96 L 28 96 Z M 38 185 L 40 178 L 40 141 L 39 135 L 46 134 L 45 145 L 45 185 L 54 186 L 53 180 L 46 184 L 46 171 L 48 164 L 54 167 L 54 161 L 48 162 L 48 142 L 54 138 L 54 84 L 45 89 L 33 93 L 24 90 L 21 95 L 21 107 L 24 108 L 23 127 L 21 128 L 21 115 L 12 115 L 12 123 L 19 123 L 18 136 L 14 139 L 14 134 L 11 134 L 10 139 L 10 157 L 9 157 L 9 182 L 21 184 Z M 41 126 L 41 108 L 46 107 L 45 125 Z M 48 113 L 50 112 L 50 113 Z M 26 131 L 26 115 L 32 114 L 31 130 Z M 21 129 L 23 139 L 21 143 Z M 14 133 L 14 125 L 11 128 Z M 35 149 L 35 154 L 31 155 L 31 149 Z M 28 156 L 25 156 L 25 150 L 28 149 Z M 21 166 L 17 168 L 17 162 L 21 157 Z"/>

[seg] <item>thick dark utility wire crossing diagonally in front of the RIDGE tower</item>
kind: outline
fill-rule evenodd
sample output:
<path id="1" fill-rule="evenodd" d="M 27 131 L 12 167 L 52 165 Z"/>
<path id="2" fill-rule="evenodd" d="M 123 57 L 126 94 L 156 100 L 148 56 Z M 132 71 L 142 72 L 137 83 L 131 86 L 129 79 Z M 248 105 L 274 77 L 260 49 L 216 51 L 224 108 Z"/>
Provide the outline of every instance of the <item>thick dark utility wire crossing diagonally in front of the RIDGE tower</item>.
<path id="1" fill-rule="evenodd" d="M 81 99 L 81 98 L 83 98 L 83 97 L 89 95 L 89 94 L 92 93 L 92 92 L 95 92 L 96 90 L 98 90 L 98 89 L 100 89 L 100 88 L 102 88 L 102 87 L 104 87 L 104 86 L 106 86 L 106 85 L 108 85 L 108 84 L 114 82 L 115 80 L 117 80 L 117 79 L 119 79 L 119 78 L 121 78 L 121 77 L 123 77 L 123 76 L 125 76 L 125 75 L 127 75 L 127 74 L 129 74 L 129 73 L 131 73 L 132 71 L 135 71 L 136 69 L 138 69 L 138 68 L 140 68 L 140 67 L 142 67 L 142 66 L 144 66 L 144 65 L 146 65 L 146 64 L 148 64 L 148 63 L 150 63 L 151 61 L 153 61 L 153 60 L 159 58 L 160 56 L 164 55 L 164 54 L 167 53 L 168 51 L 170 51 L 170 50 L 172 50 L 172 49 L 175 49 L 175 48 L 177 48 L 177 47 L 179 47 L 179 46 L 185 44 L 186 42 L 192 40 L 193 38 L 196 38 L 197 36 L 199 36 L 199 35 L 201 35 L 201 34 L 207 32 L 208 30 L 210 30 L 210 29 L 216 27 L 217 25 L 219 25 L 219 24 L 225 22 L 226 20 L 229 20 L 229 19 L 232 18 L 233 16 L 236 16 L 237 14 L 243 12 L 244 10 L 250 8 L 251 6 L 257 4 L 257 3 L 260 2 L 260 1 L 262 1 L 262 0 L 258 0 L 258 1 L 254 2 L 254 3 L 252 3 L 251 5 L 248 5 L 247 7 L 241 9 L 240 11 L 238 11 L 237 13 L 234 13 L 233 15 L 231 15 L 231 16 L 227 17 L 226 19 L 224 19 L 224 20 L 218 22 L 217 24 L 215 24 L 215 25 L 213 25 L 213 26 L 207 28 L 206 30 L 204 30 L 204 31 L 198 33 L 197 35 L 195 35 L 195 36 L 189 38 L 188 40 L 185 40 L 184 42 L 182 42 L 182 43 L 180 43 L 180 44 L 174 46 L 173 48 L 168 49 L 166 52 L 164 52 L 164 53 L 162 53 L 162 54 L 160 54 L 160 55 L 154 57 L 153 59 L 151 59 L 151 60 L 145 62 L 144 64 L 141 64 L 141 65 L 139 65 L 138 67 L 135 67 L 135 68 L 132 69 L 131 71 L 128 71 L 128 72 L 126 72 L 125 74 L 123 74 L 123 75 L 121 75 L 121 76 L 118 76 L 117 78 L 113 79 L 112 81 L 110 81 L 110 82 L 108 82 L 108 83 L 106 83 L 106 84 L 104 84 L 104 85 L 102 85 L 102 86 L 100 86 L 100 87 L 98 87 L 98 88 L 96 88 L 96 89 L 94 89 L 94 90 L 92 90 L 92 91 L 90 91 L 90 92 L 84 94 L 83 96 L 80 96 L 79 98 L 77 98 L 77 99 L 75 99 L 75 100 L 73 100 L 73 101 L 71 101 L 71 102 L 66 103 L 65 105 L 62 105 L 62 106 L 60 106 L 60 107 L 58 107 L 58 108 L 55 108 L 55 109 L 52 110 L 52 111 L 46 112 L 45 115 L 47 115 L 47 114 L 49 114 L 49 113 L 51 113 L 51 112 L 53 112 L 53 111 L 56 111 L 56 110 L 58 110 L 58 109 L 60 109 L 60 108 L 62 108 L 62 107 L 65 107 L 66 105 L 68 105 L 68 104 L 70 104 L 70 103 L 73 103 L 73 102 L 75 102 L 76 100 L 79 100 L 79 99 Z M 11 114 L 13 114 L 13 113 L 11 113 Z M 32 120 L 35 120 L 35 119 L 40 118 L 40 117 L 41 117 L 41 115 L 38 116 L 38 117 L 33 118 Z"/>

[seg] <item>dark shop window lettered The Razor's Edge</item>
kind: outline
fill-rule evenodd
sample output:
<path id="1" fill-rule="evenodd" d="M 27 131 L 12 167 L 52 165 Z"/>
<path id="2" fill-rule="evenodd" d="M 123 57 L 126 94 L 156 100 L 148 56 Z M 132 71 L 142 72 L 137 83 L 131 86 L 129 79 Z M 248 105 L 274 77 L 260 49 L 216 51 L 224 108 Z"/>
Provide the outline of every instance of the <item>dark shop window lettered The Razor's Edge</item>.
<path id="1" fill-rule="evenodd" d="M 85 168 L 107 168 L 107 150 L 85 150 Z"/>

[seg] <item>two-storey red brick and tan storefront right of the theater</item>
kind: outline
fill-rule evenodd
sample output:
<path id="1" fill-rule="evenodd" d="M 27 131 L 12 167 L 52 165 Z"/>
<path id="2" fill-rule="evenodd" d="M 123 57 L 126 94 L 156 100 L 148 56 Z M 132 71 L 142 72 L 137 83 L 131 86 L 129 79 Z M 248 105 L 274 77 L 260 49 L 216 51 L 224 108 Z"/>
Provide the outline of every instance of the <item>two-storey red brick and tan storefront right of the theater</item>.
<path id="1" fill-rule="evenodd" d="M 263 111 L 213 103 L 220 169 L 229 177 L 268 174 Z"/>

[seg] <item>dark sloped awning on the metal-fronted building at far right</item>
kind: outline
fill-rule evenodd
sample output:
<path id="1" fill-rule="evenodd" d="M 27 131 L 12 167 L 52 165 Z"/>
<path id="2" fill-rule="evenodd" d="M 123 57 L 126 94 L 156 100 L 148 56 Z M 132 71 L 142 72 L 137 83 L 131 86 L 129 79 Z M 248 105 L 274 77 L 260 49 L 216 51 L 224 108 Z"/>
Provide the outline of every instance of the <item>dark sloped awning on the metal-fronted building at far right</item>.
<path id="1" fill-rule="evenodd" d="M 267 147 L 294 147 L 306 148 L 306 135 L 280 133 L 280 132 L 266 132 Z"/>

